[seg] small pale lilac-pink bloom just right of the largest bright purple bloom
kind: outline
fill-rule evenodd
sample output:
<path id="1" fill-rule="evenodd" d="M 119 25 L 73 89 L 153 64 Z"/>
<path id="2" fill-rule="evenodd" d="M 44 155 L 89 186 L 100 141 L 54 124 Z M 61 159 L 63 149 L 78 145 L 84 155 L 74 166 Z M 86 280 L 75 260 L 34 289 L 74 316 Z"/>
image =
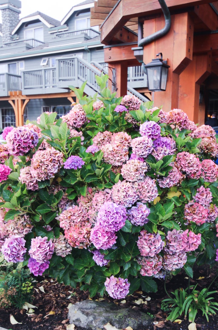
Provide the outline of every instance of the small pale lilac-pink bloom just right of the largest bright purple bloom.
<path id="1" fill-rule="evenodd" d="M 149 221 L 149 214 L 150 209 L 145 204 L 136 203 L 136 206 L 127 211 L 127 218 L 133 225 L 144 226 Z"/>

